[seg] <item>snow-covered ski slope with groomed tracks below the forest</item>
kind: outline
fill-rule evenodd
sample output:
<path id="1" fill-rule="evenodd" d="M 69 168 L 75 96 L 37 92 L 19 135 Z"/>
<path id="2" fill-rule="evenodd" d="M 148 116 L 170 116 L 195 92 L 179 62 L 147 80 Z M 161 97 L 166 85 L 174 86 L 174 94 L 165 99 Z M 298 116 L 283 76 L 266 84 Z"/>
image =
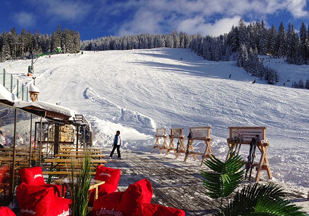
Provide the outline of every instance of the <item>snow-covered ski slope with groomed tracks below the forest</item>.
<path id="1" fill-rule="evenodd" d="M 110 146 L 120 130 L 124 148 L 151 151 L 156 128 L 169 134 L 170 128 L 184 127 L 188 135 L 189 127 L 211 126 L 213 153 L 225 158 L 228 127 L 266 126 L 273 177 L 309 188 L 309 90 L 291 88 L 293 81 L 306 81 L 309 66 L 263 58 L 279 72 L 278 84 L 260 79 L 252 84 L 254 77 L 236 62 L 206 61 L 187 49 L 53 55 L 36 61 L 34 76 L 39 100 L 85 115 L 98 146 Z M 31 60 L 0 65 L 33 82 L 26 76 Z M 203 142 L 194 147 L 204 151 Z M 247 146 L 241 154 L 247 158 Z M 267 179 L 266 172 L 261 179 Z"/>

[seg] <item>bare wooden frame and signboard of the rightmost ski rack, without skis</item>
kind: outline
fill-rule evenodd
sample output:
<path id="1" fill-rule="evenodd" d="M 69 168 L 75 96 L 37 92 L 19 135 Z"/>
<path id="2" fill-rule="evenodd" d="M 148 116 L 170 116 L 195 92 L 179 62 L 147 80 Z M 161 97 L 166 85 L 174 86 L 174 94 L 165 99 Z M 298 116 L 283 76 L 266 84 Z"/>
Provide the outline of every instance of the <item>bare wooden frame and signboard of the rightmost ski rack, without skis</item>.
<path id="1" fill-rule="evenodd" d="M 237 142 L 234 141 L 234 137 L 238 135 L 243 136 L 242 144 L 250 144 L 251 139 L 254 138 L 255 135 L 259 135 L 259 140 L 256 141 L 256 146 L 259 149 L 261 156 L 258 163 L 253 163 L 253 166 L 256 167 L 255 182 L 259 181 L 262 170 L 266 170 L 268 179 L 271 179 L 272 174 L 267 157 L 269 141 L 266 140 L 266 127 L 229 127 L 229 138 L 227 139 L 229 152 L 226 159 L 230 157 L 231 151 L 233 151 L 237 146 Z M 247 161 L 244 160 L 244 163 L 246 164 Z"/>

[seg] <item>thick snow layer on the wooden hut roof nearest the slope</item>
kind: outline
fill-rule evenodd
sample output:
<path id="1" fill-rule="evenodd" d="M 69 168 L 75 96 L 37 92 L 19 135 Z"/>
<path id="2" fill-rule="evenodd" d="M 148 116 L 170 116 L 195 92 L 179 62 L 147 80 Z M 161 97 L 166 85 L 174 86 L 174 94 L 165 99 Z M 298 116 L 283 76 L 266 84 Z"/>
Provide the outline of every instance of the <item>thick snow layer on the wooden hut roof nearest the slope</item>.
<path id="1" fill-rule="evenodd" d="M 64 115 L 68 118 L 69 120 L 73 120 L 75 118 L 75 111 L 71 110 L 69 108 L 57 105 L 57 104 L 52 104 L 49 102 L 43 102 L 43 101 L 16 101 L 13 105 L 14 107 L 17 108 L 26 108 L 26 107 L 35 107 L 39 108 L 41 110 L 46 110 L 50 111 L 53 113 L 61 114 Z"/>

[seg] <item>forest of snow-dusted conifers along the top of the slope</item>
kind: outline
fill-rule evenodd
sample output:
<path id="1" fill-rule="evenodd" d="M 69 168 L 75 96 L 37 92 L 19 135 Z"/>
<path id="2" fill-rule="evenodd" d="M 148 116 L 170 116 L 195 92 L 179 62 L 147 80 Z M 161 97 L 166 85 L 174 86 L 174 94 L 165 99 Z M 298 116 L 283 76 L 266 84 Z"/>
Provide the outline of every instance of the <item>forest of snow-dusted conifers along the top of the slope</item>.
<path id="1" fill-rule="evenodd" d="M 266 28 L 264 22 L 246 26 L 240 19 L 238 26 L 220 36 L 188 35 L 173 31 L 167 34 L 140 34 L 121 37 L 105 36 L 92 40 L 80 40 L 79 32 L 58 26 L 51 35 L 22 29 L 17 34 L 15 28 L 0 34 L 0 62 L 13 59 L 32 58 L 33 55 L 62 48 L 62 53 L 84 51 L 129 50 L 151 48 L 189 48 L 197 55 L 211 61 L 237 60 L 239 67 L 269 83 L 278 82 L 277 72 L 267 69 L 258 55 L 286 58 L 290 64 L 309 64 L 309 28 L 303 22 L 297 32 L 294 24 L 285 29 L 281 22 L 278 30 L 274 25 Z M 237 59 L 236 59 L 237 58 Z"/>

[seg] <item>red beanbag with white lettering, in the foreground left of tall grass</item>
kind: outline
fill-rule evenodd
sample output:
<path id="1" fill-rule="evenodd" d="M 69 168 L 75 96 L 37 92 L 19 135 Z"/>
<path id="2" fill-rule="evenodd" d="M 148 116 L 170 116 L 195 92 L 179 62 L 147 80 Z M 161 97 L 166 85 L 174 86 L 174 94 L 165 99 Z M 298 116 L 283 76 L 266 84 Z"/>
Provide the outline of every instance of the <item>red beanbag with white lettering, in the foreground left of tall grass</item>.
<path id="1" fill-rule="evenodd" d="M 55 197 L 54 188 L 21 183 L 16 188 L 20 216 L 68 216 L 71 200 Z"/>

